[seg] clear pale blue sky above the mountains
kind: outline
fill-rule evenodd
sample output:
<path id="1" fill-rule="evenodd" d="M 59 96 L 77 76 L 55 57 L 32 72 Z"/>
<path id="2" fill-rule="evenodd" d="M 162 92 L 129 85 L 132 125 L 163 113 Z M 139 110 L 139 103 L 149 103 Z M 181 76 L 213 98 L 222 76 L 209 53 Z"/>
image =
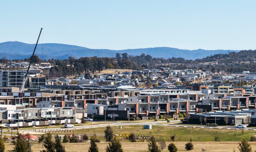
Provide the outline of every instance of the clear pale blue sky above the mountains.
<path id="1" fill-rule="evenodd" d="M 255 48 L 256 1 L 1 1 L 0 42 L 88 48 Z"/>

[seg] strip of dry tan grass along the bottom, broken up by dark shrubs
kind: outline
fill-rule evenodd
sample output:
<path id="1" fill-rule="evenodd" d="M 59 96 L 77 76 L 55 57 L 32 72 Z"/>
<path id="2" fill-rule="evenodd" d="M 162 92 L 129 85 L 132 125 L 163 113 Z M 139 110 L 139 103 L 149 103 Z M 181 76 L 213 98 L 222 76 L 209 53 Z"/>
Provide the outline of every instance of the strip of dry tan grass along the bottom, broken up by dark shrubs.
<path id="1" fill-rule="evenodd" d="M 167 145 L 170 144 L 170 142 L 167 142 Z M 174 144 L 177 146 L 178 151 L 185 151 L 185 144 L 186 142 L 174 142 Z M 206 149 L 208 152 L 226 152 L 226 151 L 233 151 L 235 148 L 235 151 L 238 151 L 238 143 L 237 142 L 193 142 L 194 149 L 190 152 L 198 152 L 201 151 L 202 148 Z M 250 143 L 251 147 L 254 150 L 256 150 L 256 144 Z M 105 148 L 107 146 L 107 143 L 97 143 L 99 151 L 106 151 Z M 78 151 L 87 151 L 87 149 L 90 146 L 90 143 L 65 143 L 64 144 L 66 151 L 68 152 L 78 152 Z M 9 143 L 5 143 L 5 151 L 13 150 L 13 145 Z M 131 142 L 122 142 L 122 148 L 124 151 L 136 151 L 136 152 L 142 152 L 142 151 L 148 151 L 148 142 L 137 142 L 137 143 L 131 143 Z M 40 150 L 43 150 L 42 144 L 34 143 L 32 146 L 32 150 L 34 152 L 39 152 Z M 164 149 L 164 152 L 167 152 L 168 149 Z"/>

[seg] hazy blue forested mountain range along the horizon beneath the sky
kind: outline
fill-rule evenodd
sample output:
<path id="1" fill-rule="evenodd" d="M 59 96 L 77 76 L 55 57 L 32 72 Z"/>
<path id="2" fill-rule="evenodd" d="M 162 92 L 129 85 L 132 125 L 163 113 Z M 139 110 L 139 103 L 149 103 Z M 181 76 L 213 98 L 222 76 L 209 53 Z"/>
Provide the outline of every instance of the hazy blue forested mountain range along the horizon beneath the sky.
<path id="1" fill-rule="evenodd" d="M 27 44 L 18 41 L 8 41 L 0 43 L 0 58 L 7 59 L 24 59 L 31 57 L 35 44 Z M 152 57 L 183 57 L 185 59 L 203 58 L 219 53 L 239 52 L 238 50 L 182 50 L 171 47 L 153 47 L 141 49 L 127 49 L 127 50 L 109 50 L 109 49 L 89 49 L 81 46 L 58 44 L 58 43 L 44 43 L 38 44 L 35 55 L 41 58 L 43 47 L 43 59 L 66 59 L 68 57 L 115 57 L 116 53 L 128 53 L 128 55 L 141 55 L 145 53 Z"/>

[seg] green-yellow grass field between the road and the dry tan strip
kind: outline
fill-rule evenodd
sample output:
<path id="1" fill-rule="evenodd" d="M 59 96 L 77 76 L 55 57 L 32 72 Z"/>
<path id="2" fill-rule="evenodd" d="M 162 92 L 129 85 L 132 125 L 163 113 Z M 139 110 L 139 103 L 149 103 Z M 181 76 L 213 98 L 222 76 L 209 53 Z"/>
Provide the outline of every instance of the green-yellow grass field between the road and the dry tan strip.
<path id="1" fill-rule="evenodd" d="M 104 130 L 106 127 L 101 128 L 87 128 L 75 129 L 75 134 L 101 134 L 99 138 L 103 139 Z M 112 127 L 115 134 L 135 133 L 136 135 L 154 136 L 156 138 L 163 137 L 166 141 L 170 136 L 176 135 L 175 141 L 192 141 L 204 142 L 214 141 L 216 133 L 221 141 L 241 141 L 241 138 L 249 139 L 255 131 L 253 130 L 235 130 L 235 129 L 213 129 L 213 128 L 184 128 L 184 127 L 169 127 L 169 126 L 152 126 L 152 129 L 143 129 L 143 125 L 129 125 Z M 71 131 L 72 133 L 72 131 Z M 52 133 L 56 134 L 56 133 Z M 66 133 L 57 133 L 66 134 Z"/>

